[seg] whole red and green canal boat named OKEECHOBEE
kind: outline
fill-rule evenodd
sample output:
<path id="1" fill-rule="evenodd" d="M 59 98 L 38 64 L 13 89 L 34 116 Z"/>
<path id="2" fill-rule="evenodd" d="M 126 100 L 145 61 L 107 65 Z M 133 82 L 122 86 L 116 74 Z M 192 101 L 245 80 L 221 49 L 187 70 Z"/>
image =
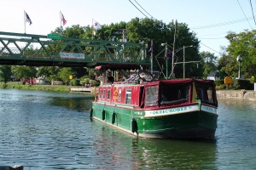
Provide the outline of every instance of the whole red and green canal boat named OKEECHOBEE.
<path id="1" fill-rule="evenodd" d="M 122 66 L 123 67 L 123 66 Z M 104 65 L 104 69 L 115 68 Z M 143 138 L 214 139 L 218 101 L 212 80 L 154 80 L 147 71 L 98 88 L 90 117 Z"/>

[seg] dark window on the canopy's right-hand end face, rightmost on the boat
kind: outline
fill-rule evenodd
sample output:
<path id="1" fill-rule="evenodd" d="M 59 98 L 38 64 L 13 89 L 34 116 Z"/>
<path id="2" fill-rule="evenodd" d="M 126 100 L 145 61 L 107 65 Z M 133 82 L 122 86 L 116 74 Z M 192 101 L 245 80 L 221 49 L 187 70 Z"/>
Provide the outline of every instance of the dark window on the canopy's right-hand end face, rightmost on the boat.
<path id="1" fill-rule="evenodd" d="M 210 104 L 215 104 L 215 98 L 213 93 L 212 86 L 196 84 L 196 91 L 198 98 L 201 99 L 201 102 L 207 102 Z"/>

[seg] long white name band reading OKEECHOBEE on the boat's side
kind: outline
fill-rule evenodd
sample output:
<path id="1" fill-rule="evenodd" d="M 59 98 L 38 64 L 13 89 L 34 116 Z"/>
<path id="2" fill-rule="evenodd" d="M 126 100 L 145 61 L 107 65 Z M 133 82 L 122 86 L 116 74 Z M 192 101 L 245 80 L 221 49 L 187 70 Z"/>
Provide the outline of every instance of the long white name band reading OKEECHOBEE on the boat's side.
<path id="1" fill-rule="evenodd" d="M 178 113 L 185 113 L 190 111 L 198 111 L 198 105 L 189 105 L 183 107 L 175 107 L 171 109 L 158 110 L 158 111 L 145 111 L 145 116 L 164 116 L 173 115 Z"/>

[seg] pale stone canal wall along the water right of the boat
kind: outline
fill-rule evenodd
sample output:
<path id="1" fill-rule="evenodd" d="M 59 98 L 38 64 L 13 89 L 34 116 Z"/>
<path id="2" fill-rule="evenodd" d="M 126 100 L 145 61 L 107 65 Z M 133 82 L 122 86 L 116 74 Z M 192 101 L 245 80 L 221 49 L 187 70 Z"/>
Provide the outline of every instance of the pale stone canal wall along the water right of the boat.
<path id="1" fill-rule="evenodd" d="M 217 99 L 239 99 L 256 101 L 256 92 L 252 90 L 218 90 Z"/>

